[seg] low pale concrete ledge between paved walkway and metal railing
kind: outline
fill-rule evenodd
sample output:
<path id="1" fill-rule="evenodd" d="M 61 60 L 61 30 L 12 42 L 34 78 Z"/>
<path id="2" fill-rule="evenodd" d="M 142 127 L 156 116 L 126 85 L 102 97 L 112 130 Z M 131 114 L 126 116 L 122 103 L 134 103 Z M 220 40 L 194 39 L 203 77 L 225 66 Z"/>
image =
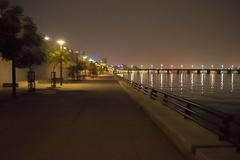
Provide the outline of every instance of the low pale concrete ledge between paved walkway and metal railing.
<path id="1" fill-rule="evenodd" d="M 214 133 L 191 120 L 185 120 L 174 110 L 134 90 L 124 81 L 118 79 L 118 82 L 186 158 L 190 160 L 240 159 L 240 153 L 236 152 L 232 144 L 219 141 Z"/>

